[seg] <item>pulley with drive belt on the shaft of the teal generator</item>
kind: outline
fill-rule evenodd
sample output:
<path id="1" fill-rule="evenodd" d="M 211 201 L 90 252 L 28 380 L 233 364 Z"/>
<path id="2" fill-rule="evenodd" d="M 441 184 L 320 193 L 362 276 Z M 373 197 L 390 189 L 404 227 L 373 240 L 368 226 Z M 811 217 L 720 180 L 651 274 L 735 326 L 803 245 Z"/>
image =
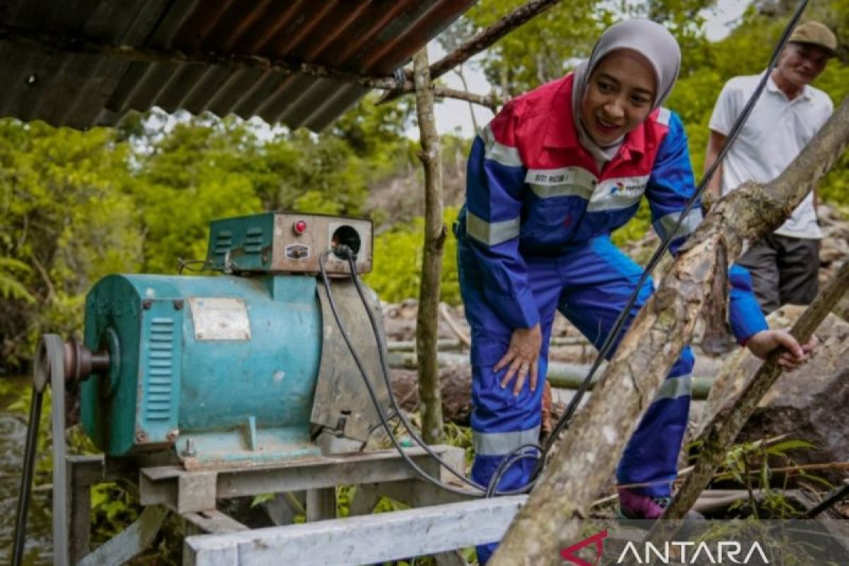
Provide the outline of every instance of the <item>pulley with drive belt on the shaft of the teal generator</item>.
<path id="1" fill-rule="evenodd" d="M 21 472 L 20 495 L 15 516 L 13 566 L 20 566 L 24 557 L 26 517 L 30 508 L 32 476 L 36 464 L 38 427 L 42 416 L 42 400 L 48 384 L 53 389 L 51 410 L 53 432 L 53 564 L 68 563 L 68 516 L 65 494 L 65 389 L 75 388 L 92 373 L 109 369 L 110 356 L 92 352 L 76 339 L 63 342 L 57 334 L 44 334 L 38 342 L 32 371 L 30 420 L 26 429 L 24 468 Z"/>

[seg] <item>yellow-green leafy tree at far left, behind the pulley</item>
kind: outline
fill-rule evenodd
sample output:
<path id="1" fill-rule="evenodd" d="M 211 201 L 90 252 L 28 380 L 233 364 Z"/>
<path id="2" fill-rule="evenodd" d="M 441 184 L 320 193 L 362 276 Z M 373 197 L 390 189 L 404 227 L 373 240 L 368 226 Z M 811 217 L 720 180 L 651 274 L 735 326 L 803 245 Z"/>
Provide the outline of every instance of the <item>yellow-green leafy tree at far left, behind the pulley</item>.
<path id="1" fill-rule="evenodd" d="M 112 132 L 0 120 L 0 360 L 31 355 L 49 329 L 72 333 L 83 293 L 139 266 L 127 147 Z"/>

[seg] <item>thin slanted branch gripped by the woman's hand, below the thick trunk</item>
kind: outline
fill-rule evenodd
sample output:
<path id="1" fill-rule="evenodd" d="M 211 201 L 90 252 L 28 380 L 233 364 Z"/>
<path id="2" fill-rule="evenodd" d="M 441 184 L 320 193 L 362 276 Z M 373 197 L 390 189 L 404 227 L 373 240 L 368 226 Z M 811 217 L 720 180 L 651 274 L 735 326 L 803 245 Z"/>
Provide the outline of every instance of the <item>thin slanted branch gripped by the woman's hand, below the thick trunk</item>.
<path id="1" fill-rule="evenodd" d="M 828 316 L 843 294 L 846 294 L 846 289 L 849 289 L 849 261 L 843 263 L 829 285 L 817 295 L 817 298 L 790 329 L 790 333 L 800 344 L 805 344 L 811 338 L 813 331 Z M 711 481 L 714 471 L 722 465 L 734 439 L 755 412 L 757 404 L 779 378 L 781 374 L 781 367 L 777 362 L 779 354 L 780 352 L 773 352 L 767 361 L 764 361 L 755 377 L 746 384 L 734 404 L 713 417 L 705 432 L 700 436 L 702 450 L 693 471 L 678 490 L 672 504 L 666 508 L 662 518 L 683 518 L 689 508 L 693 507 L 701 491 Z M 649 540 L 668 541 L 674 532 L 674 521 L 658 521 L 649 533 Z"/>

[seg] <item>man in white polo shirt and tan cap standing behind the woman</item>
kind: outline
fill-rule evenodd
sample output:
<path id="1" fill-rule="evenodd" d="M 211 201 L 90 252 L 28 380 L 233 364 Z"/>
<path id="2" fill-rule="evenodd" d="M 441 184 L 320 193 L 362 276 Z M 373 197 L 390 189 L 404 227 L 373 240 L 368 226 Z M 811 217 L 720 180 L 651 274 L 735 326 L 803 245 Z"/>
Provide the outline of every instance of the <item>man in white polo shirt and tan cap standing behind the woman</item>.
<path id="1" fill-rule="evenodd" d="M 725 194 L 746 181 L 772 181 L 817 134 L 834 107 L 828 95 L 810 83 L 835 56 L 836 48 L 835 34 L 826 26 L 807 22 L 796 27 L 761 98 L 711 179 L 711 197 L 720 196 L 720 186 Z M 717 160 L 728 132 L 762 76 L 736 76 L 722 88 L 709 124 L 705 170 Z M 765 314 L 787 303 L 808 305 L 817 294 L 823 233 L 816 201 L 815 192 L 808 194 L 778 230 L 754 244 L 738 261 L 751 273 Z"/>

